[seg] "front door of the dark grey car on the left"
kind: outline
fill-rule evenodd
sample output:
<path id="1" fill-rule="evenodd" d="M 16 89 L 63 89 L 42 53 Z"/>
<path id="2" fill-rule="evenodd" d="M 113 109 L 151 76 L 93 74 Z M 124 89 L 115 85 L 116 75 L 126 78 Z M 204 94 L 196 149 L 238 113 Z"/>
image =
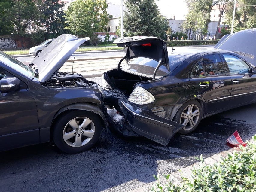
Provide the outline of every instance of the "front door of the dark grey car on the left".
<path id="1" fill-rule="evenodd" d="M 13 77 L 0 68 L 0 84 L 5 77 Z M 0 151 L 39 143 L 38 113 L 27 85 L 20 80 L 20 88 L 0 93 Z"/>

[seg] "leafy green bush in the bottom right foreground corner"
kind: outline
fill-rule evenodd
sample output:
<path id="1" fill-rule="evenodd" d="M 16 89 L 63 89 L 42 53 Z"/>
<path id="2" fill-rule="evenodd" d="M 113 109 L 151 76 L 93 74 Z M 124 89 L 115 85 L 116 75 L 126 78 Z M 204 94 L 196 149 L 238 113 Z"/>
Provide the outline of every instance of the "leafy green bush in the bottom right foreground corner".
<path id="1" fill-rule="evenodd" d="M 167 182 L 159 181 L 159 174 L 153 177 L 157 180 L 150 191 L 154 192 L 254 192 L 256 191 L 256 134 L 253 142 L 247 141 L 247 146 L 240 145 L 242 151 L 234 151 L 228 157 L 213 166 L 204 163 L 202 154 L 199 166 L 194 166 L 190 178 L 182 176 L 182 182 L 175 184 L 173 178 L 163 174 Z"/>

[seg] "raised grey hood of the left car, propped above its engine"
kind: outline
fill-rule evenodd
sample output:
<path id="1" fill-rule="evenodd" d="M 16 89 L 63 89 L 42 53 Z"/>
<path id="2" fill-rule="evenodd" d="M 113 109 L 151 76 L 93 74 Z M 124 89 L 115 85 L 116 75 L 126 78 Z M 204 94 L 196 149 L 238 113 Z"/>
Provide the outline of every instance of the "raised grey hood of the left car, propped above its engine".
<path id="1" fill-rule="evenodd" d="M 47 81 L 58 71 L 75 50 L 89 38 L 76 38 L 75 35 L 63 34 L 57 37 L 51 44 L 30 63 L 38 68 L 38 81 Z"/>

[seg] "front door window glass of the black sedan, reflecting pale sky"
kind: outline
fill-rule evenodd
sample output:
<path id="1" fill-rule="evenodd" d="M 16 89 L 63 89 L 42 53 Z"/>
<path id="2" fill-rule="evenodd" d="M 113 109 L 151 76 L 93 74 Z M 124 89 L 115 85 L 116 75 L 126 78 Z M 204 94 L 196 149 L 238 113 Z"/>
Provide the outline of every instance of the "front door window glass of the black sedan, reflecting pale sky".
<path id="1" fill-rule="evenodd" d="M 251 71 L 250 67 L 239 57 L 229 54 L 223 54 L 223 56 L 227 62 L 230 74 L 243 74 Z"/>

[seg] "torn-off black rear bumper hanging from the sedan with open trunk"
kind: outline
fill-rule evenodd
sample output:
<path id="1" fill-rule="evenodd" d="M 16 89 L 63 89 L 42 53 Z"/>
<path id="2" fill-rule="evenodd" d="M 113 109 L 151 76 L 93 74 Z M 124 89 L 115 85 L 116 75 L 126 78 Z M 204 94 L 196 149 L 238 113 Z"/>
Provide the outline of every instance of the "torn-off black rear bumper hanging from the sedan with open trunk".
<path id="1" fill-rule="evenodd" d="M 139 108 L 125 96 L 118 95 L 118 105 L 126 117 L 131 130 L 162 145 L 167 145 L 172 136 L 185 126 Z M 116 97 L 117 98 L 117 97 Z M 121 131 L 121 130 L 120 130 Z"/>

